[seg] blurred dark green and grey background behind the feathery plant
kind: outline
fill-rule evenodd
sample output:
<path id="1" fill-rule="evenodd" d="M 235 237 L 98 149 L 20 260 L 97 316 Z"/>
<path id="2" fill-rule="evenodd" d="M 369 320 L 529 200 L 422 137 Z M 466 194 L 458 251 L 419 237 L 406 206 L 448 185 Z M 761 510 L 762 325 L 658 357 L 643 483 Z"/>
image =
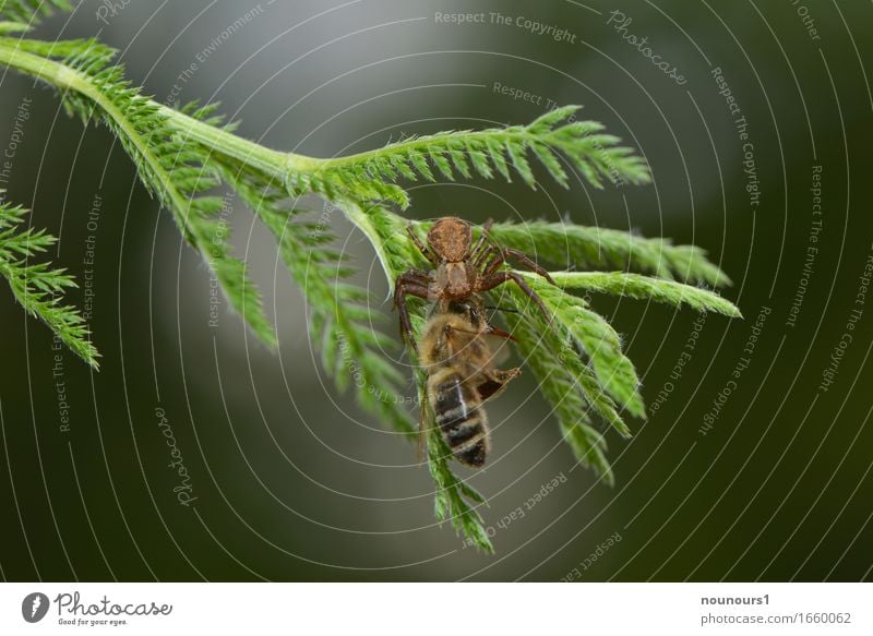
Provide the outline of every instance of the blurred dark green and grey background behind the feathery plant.
<path id="1" fill-rule="evenodd" d="M 552 101 L 583 104 L 583 117 L 641 149 L 653 185 L 564 191 L 543 180 L 534 192 L 440 183 L 414 187 L 409 214 L 566 218 L 695 243 L 732 277 L 725 293 L 745 320 L 598 299 L 626 336 L 651 417 L 632 422 L 629 442 L 608 434 L 610 489 L 574 469 L 525 374 L 490 407 L 492 461 L 473 483 L 488 497 L 482 513 L 497 554 L 478 554 L 434 524 L 432 484 L 414 446 L 325 377 L 303 298 L 248 211 L 231 202 L 235 241 L 267 297 L 277 352 L 226 307 L 218 328 L 208 326 L 206 266 L 111 136 L 83 130 L 50 91 L 3 71 L 0 152 L 13 151 L 3 187 L 34 208 L 35 226 L 61 237 L 53 257 L 81 283 L 95 237 L 92 327 L 103 353 L 92 373 L 52 350 L 50 333 L 0 289 L 4 579 L 871 577 L 873 300 L 857 303 L 873 255 L 869 2 L 492 0 L 464 3 L 485 22 L 463 25 L 438 19 L 461 7 L 441 0 L 117 7 L 111 15 L 108 4 L 83 2 L 37 35 L 99 34 L 156 99 L 219 99 L 242 120 L 241 134 L 276 148 L 332 156 L 402 134 L 527 122 Z M 625 31 L 614 28 L 618 14 L 609 23 L 613 11 Z M 567 36 L 538 35 L 526 19 Z M 647 37 L 684 84 L 623 35 Z M 746 119 L 748 142 L 717 69 Z M 500 86 L 539 99 L 513 99 Z M 760 189 L 754 207 L 746 151 Z M 309 204 L 321 214 L 318 201 Z M 327 212 L 374 311 L 390 313 L 368 244 Z M 817 252 L 808 260 L 811 245 Z M 850 331 L 853 309 L 862 314 Z M 671 377 L 695 333 L 691 359 Z M 852 340 L 824 391 L 844 334 Z M 743 358 L 748 368 L 729 384 Z M 188 506 L 174 492 L 167 425 L 196 497 Z M 555 478 L 548 496 L 526 505 Z M 519 506 L 524 516 L 505 523 Z"/>

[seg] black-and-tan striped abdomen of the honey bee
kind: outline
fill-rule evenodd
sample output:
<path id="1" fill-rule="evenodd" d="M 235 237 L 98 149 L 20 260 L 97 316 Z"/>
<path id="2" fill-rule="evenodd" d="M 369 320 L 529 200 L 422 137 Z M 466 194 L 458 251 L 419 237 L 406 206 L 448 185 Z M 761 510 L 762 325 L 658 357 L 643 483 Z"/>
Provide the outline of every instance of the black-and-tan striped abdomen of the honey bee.
<path id="1" fill-rule="evenodd" d="M 428 393 L 436 425 L 462 464 L 479 468 L 488 455 L 488 418 L 482 400 L 470 383 L 453 369 L 428 379 Z"/>

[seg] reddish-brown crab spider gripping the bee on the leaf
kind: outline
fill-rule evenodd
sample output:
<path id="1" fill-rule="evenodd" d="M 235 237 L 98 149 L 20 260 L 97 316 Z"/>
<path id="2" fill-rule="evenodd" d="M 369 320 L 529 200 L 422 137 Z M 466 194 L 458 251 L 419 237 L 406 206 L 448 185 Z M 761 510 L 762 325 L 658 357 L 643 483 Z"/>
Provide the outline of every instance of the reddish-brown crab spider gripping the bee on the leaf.
<path id="1" fill-rule="evenodd" d="M 546 269 L 521 250 L 501 248 L 490 242 L 491 237 L 488 231 L 492 224 L 493 219 L 488 219 L 476 245 L 473 244 L 470 224 L 454 216 L 443 217 L 433 224 L 428 232 L 427 245 L 421 243 L 412 226 L 406 228 L 412 242 L 434 267 L 431 272 L 409 269 L 397 277 L 395 285 L 394 303 L 399 313 L 400 335 L 416 352 L 418 347 L 412 335 L 409 310 L 406 307 L 407 295 L 436 302 L 438 311 L 444 312 L 450 303 L 467 300 L 507 280 L 513 280 L 549 320 L 549 312 L 542 299 L 525 279 L 516 272 L 501 271 L 500 267 L 506 259 L 513 259 L 552 285 L 554 280 Z"/>

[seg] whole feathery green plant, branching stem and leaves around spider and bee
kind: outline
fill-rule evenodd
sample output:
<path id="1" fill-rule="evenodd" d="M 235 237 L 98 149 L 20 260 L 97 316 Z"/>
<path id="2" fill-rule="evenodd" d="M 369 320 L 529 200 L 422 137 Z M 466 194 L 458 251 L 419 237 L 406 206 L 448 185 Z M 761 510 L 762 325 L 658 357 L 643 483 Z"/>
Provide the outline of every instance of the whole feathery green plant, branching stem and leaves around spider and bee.
<path id="1" fill-rule="evenodd" d="M 336 252 L 335 237 L 297 207 L 299 199 L 319 194 L 340 208 L 373 245 L 393 284 L 409 266 L 424 265 L 406 236 L 408 221 L 386 207 L 409 204 L 402 181 L 481 177 L 521 179 L 536 187 L 538 170 L 563 187 L 571 185 L 574 171 L 596 188 L 607 182 L 649 180 L 643 159 L 622 147 L 617 137 L 605 134 L 601 124 L 575 121 L 577 107 L 555 109 L 527 125 L 408 137 L 349 157 L 318 159 L 278 153 L 234 135 L 234 127 L 215 115 L 215 105 L 171 109 L 150 100 L 113 64 L 115 51 L 95 40 L 43 43 L 1 37 L 26 31 L 29 22 L 20 20 L 29 21 L 31 10 L 41 12 L 40 7 L 35 2 L 0 3 L 0 19 L 15 20 L 0 22 L 0 63 L 45 80 L 61 92 L 70 113 L 100 121 L 112 131 L 145 187 L 213 267 L 230 303 L 261 338 L 272 343 L 273 329 L 263 315 L 260 296 L 247 277 L 244 263 L 230 254 L 227 229 L 216 218 L 222 211 L 216 195 L 219 187 L 224 183 L 237 191 L 276 237 L 291 277 L 306 295 L 312 312 L 310 335 L 321 344 L 324 368 L 339 389 L 345 389 L 350 384 L 351 361 L 361 407 L 404 435 L 409 435 L 414 425 L 393 398 L 403 393 L 405 382 L 385 356 L 396 351 L 399 338 L 372 321 L 369 295 L 349 281 L 354 271 Z M 719 287 L 730 280 L 697 248 L 625 231 L 539 221 L 499 224 L 492 236 L 498 244 L 517 248 L 558 269 L 621 271 L 555 273 L 559 287 L 529 276 L 553 314 L 551 324 L 512 286 L 495 291 L 505 293 L 521 312 L 509 315 L 507 322 L 518 338 L 519 352 L 552 405 L 562 434 L 583 465 L 611 482 L 606 442 L 596 420 L 627 435 L 625 413 L 645 415 L 639 381 L 614 329 L 586 301 L 564 289 L 739 315 L 729 301 L 711 291 L 683 285 Z M 28 240 L 39 245 L 49 239 L 35 232 Z M 55 295 L 69 287 L 69 277 L 46 266 L 22 269 L 27 265 L 14 259 L 10 262 L 19 274 L 7 271 L 4 275 L 13 283 L 24 280 L 17 288 L 13 284 L 13 291 L 25 307 L 29 302 L 34 313 L 52 328 L 72 336 L 71 346 L 86 343 L 86 332 L 76 331 L 82 325 L 71 313 L 74 310 L 51 304 Z M 39 292 L 49 296 L 39 297 Z M 426 311 L 426 303 L 412 302 L 416 333 L 421 331 Z M 420 371 L 416 382 L 423 396 Z M 438 518 L 451 520 L 469 541 L 491 550 L 478 512 L 482 496 L 453 472 L 451 453 L 439 431 L 431 429 L 428 435 Z"/>

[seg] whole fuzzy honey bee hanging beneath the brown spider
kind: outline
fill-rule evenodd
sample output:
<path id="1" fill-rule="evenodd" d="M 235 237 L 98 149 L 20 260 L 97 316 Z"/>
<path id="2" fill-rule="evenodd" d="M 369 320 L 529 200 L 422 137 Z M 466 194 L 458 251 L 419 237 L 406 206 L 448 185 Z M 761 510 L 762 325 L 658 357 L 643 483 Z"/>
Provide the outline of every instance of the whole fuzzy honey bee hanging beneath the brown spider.
<path id="1" fill-rule="evenodd" d="M 477 298 L 450 302 L 436 311 L 422 332 L 419 350 L 428 380 L 426 399 L 433 423 L 454 457 L 480 468 L 489 451 L 488 417 L 483 404 L 495 397 L 521 370 L 495 368 L 500 345 L 512 336 L 491 326 Z M 428 404 L 422 405 L 419 449 L 423 446 Z"/>

